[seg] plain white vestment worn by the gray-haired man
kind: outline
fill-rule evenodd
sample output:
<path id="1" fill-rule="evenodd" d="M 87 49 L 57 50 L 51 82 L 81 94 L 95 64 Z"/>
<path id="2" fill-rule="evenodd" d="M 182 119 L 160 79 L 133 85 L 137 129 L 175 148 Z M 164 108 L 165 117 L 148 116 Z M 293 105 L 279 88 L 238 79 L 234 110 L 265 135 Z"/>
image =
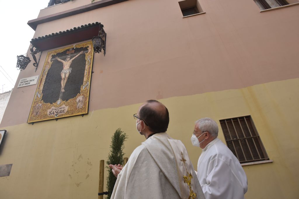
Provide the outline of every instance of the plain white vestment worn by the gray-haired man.
<path id="1" fill-rule="evenodd" d="M 243 199 L 247 192 L 247 177 L 240 162 L 218 138 L 202 149 L 197 178 L 207 199 Z"/>

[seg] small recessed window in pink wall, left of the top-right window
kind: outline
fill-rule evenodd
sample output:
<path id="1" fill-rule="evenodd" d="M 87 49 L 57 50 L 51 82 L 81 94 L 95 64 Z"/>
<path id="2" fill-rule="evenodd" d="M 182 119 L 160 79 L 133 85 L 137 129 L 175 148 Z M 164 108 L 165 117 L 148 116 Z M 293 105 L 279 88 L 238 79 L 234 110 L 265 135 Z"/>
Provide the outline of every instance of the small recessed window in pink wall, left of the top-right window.
<path id="1" fill-rule="evenodd" d="M 202 8 L 197 0 L 184 0 L 179 1 L 183 16 L 190 16 L 198 13 L 203 13 Z"/>

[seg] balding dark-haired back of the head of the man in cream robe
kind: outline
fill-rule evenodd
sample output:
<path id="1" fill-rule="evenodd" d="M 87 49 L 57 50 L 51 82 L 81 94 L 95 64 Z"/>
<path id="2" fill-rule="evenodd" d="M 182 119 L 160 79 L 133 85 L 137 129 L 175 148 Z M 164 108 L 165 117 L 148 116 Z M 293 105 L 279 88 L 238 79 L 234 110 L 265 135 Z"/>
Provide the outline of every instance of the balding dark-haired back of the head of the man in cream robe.
<path id="1" fill-rule="evenodd" d="M 157 100 L 148 100 L 139 109 L 139 115 L 153 133 L 166 132 L 169 124 L 168 109 Z"/>

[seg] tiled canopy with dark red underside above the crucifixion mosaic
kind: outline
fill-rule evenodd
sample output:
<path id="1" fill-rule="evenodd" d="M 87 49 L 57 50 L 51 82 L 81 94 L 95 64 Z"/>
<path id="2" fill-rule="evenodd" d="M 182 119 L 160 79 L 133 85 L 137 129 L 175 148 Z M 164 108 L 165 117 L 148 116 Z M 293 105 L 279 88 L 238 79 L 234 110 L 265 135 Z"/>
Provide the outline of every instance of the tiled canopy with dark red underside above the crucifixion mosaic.
<path id="1" fill-rule="evenodd" d="M 31 39 L 30 43 L 40 51 L 49 50 L 80 41 L 91 40 L 94 36 L 98 35 L 99 27 L 103 27 L 103 24 L 99 22 L 85 24 L 70 30 Z"/>

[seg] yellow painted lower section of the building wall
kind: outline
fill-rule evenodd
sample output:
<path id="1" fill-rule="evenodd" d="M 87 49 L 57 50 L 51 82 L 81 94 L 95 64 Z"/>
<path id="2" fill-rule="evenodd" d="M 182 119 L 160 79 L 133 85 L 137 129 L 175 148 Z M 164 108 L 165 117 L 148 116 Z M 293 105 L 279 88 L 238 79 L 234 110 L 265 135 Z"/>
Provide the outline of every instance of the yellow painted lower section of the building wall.
<path id="1" fill-rule="evenodd" d="M 297 78 L 160 101 L 170 112 L 169 135 L 183 141 L 195 167 L 201 150 L 190 142 L 194 121 L 213 118 L 224 141 L 220 119 L 251 115 L 273 163 L 243 166 L 248 177 L 245 197 L 297 198 L 298 87 Z M 10 176 L 0 178 L 1 198 L 97 198 L 99 161 L 106 160 L 115 129 L 129 135 L 126 156 L 144 141 L 133 119 L 139 106 L 1 128 L 7 136 L 0 164 L 13 163 Z"/>

